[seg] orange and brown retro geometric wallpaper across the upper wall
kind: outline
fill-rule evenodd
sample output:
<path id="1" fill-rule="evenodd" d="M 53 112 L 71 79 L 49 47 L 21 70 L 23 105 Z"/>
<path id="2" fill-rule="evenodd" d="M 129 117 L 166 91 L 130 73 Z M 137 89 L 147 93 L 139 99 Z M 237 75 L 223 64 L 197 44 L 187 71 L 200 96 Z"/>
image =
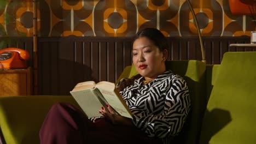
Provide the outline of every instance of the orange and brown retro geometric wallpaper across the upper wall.
<path id="1" fill-rule="evenodd" d="M 251 35 L 251 15 L 234 15 L 228 0 L 190 0 L 202 36 Z M 167 37 L 196 36 L 185 0 L 37 0 L 39 37 L 131 37 L 145 27 Z M 32 0 L 1 0 L 0 36 L 33 36 Z"/>

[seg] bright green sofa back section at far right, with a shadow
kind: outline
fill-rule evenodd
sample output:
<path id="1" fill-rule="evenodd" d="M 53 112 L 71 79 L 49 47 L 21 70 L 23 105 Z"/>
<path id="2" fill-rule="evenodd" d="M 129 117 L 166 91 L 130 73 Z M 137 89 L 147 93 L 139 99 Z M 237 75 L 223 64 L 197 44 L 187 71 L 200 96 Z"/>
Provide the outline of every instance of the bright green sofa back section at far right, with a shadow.
<path id="1" fill-rule="evenodd" d="M 213 82 L 200 144 L 256 142 L 256 52 L 227 52 Z"/>

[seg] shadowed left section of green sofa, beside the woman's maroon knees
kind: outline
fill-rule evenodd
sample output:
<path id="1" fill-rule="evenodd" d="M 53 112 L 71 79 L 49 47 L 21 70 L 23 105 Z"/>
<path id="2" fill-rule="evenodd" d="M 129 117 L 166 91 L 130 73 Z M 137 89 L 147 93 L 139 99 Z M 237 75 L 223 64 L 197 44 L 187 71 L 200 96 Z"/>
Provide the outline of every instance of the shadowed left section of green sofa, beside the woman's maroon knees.
<path id="1" fill-rule="evenodd" d="M 0 97 L 0 127 L 7 144 L 39 143 L 39 129 L 51 105 L 77 103 L 69 96 Z M 1 142 L 0 142 L 1 143 Z"/>

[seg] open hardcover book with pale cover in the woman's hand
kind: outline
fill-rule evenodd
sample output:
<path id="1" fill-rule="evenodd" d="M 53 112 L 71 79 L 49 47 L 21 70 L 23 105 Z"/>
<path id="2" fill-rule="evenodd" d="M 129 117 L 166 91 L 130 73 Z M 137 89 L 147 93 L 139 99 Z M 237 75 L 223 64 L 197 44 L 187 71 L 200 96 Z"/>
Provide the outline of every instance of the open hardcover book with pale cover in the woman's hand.
<path id="1" fill-rule="evenodd" d="M 70 93 L 89 118 L 102 116 L 99 111 L 102 106 L 107 109 L 107 104 L 119 115 L 132 118 L 129 107 L 112 82 L 80 82 Z"/>

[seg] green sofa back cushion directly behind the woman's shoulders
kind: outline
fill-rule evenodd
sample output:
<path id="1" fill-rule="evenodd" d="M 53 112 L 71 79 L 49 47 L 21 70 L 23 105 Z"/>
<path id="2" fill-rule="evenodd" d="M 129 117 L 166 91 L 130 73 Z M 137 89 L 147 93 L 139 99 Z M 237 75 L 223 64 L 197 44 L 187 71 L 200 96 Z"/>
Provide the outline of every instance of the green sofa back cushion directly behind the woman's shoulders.
<path id="1" fill-rule="evenodd" d="M 189 87 L 192 109 L 187 127 L 177 138 L 179 143 L 197 144 L 201 130 L 201 119 L 206 107 L 205 94 L 205 68 L 206 64 L 201 61 L 167 61 L 166 69 L 183 76 Z M 118 81 L 123 77 L 130 78 L 138 74 L 133 65 L 125 68 Z"/>

